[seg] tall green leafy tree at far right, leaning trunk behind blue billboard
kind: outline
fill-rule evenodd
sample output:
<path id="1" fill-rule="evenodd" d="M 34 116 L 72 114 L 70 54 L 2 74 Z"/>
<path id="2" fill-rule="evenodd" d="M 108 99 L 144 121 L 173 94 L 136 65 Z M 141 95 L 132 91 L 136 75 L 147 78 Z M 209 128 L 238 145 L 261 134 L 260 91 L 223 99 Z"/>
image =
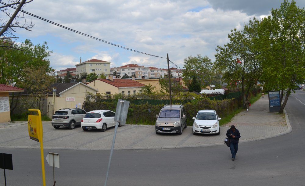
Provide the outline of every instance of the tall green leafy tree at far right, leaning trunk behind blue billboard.
<path id="1" fill-rule="evenodd" d="M 271 16 L 264 18 L 259 30 L 263 67 L 261 80 L 264 91 L 280 90 L 283 113 L 291 90 L 305 77 L 305 10 L 296 2 L 287 0 L 279 9 L 272 9 Z"/>

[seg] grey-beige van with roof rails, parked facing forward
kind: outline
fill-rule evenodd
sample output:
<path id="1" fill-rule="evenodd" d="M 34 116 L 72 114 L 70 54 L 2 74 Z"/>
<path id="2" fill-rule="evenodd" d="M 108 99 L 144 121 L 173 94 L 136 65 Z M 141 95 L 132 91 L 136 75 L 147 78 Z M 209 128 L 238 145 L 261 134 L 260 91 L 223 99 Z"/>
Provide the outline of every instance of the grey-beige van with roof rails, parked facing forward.
<path id="1" fill-rule="evenodd" d="M 183 105 L 165 105 L 156 118 L 156 134 L 182 134 L 182 130 L 186 128 L 186 110 Z"/>

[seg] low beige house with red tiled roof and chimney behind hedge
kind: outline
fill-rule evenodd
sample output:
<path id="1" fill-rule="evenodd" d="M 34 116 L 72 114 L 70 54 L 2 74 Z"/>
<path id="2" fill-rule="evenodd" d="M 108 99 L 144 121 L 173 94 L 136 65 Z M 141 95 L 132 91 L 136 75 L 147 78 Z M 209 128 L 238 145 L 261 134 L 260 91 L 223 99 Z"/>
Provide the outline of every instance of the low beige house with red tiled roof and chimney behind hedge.
<path id="1" fill-rule="evenodd" d="M 109 74 L 107 79 L 96 79 L 87 84 L 98 90 L 98 94 L 134 95 L 142 91 L 144 84 L 131 79 L 113 79 Z"/>

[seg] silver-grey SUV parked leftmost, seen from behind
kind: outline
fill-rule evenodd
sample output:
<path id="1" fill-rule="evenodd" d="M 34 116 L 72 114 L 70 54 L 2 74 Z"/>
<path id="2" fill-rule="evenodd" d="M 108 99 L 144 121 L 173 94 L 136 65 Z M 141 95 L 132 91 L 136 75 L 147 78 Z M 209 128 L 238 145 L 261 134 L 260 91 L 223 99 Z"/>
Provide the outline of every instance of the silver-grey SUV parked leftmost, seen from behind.
<path id="1" fill-rule="evenodd" d="M 56 129 L 59 127 L 74 129 L 76 125 L 81 124 L 81 119 L 86 113 L 83 109 L 59 109 L 52 116 L 52 126 Z"/>

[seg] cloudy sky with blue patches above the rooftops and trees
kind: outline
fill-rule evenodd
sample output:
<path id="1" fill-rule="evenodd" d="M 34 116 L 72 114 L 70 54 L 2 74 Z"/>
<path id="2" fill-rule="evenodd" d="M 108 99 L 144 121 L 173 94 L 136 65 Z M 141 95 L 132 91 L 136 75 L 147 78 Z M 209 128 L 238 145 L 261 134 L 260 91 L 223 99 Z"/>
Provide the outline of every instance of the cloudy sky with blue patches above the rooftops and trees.
<path id="1" fill-rule="evenodd" d="M 215 59 L 217 45 L 229 42 L 234 28 L 242 29 L 253 17 L 270 15 L 280 0 L 34 0 L 23 10 L 95 38 L 159 56 L 132 52 L 31 17 L 32 31 L 16 29 L 16 42 L 30 39 L 48 43 L 51 67 L 75 68 L 89 59 L 167 68 L 170 61 L 183 68 L 188 56 Z M 291 2 L 289 0 L 289 2 Z M 300 8 L 304 0 L 296 0 Z M 30 16 L 29 16 L 30 17 Z M 170 63 L 170 67 L 177 67 Z"/>

